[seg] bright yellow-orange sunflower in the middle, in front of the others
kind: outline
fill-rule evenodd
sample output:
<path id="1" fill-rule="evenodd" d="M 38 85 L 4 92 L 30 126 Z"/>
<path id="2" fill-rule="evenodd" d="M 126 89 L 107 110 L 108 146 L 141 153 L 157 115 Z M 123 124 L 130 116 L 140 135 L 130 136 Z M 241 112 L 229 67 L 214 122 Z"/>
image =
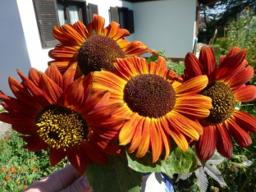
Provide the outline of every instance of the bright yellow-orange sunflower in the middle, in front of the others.
<path id="1" fill-rule="evenodd" d="M 93 92 L 108 90 L 109 103 L 121 105 L 116 116 L 126 116 L 119 130 L 121 145 L 141 158 L 152 150 L 153 162 L 165 148 L 170 153 L 170 136 L 182 151 L 188 149 L 187 139 L 199 139 L 203 129 L 196 119 L 208 117 L 212 100 L 199 95 L 206 85 L 206 75 L 182 82 L 174 71 L 167 69 L 163 57 L 148 64 L 141 57 L 117 59 L 117 71 L 95 71 Z"/>

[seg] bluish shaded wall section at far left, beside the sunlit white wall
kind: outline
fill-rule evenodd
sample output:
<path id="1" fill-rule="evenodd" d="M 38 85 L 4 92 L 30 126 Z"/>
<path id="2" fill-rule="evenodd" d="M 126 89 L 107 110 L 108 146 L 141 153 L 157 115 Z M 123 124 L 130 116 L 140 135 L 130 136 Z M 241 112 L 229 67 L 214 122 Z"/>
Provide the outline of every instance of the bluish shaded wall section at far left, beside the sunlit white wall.
<path id="1" fill-rule="evenodd" d="M 16 1 L 1 1 L 0 24 L 0 90 L 13 96 L 8 77 L 21 81 L 16 69 L 27 75 L 31 66 Z"/>

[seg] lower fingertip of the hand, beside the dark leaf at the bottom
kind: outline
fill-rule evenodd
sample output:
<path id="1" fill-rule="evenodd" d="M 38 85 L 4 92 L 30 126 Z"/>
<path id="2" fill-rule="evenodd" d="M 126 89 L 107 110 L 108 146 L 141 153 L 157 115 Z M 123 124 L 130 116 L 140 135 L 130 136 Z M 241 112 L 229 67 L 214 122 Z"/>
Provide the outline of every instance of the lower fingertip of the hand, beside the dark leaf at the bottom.
<path id="1" fill-rule="evenodd" d="M 76 180 L 71 185 L 67 186 L 64 190 L 60 192 L 93 192 L 93 188 L 89 186 L 89 181 L 86 176 L 80 176 L 78 180 Z"/>

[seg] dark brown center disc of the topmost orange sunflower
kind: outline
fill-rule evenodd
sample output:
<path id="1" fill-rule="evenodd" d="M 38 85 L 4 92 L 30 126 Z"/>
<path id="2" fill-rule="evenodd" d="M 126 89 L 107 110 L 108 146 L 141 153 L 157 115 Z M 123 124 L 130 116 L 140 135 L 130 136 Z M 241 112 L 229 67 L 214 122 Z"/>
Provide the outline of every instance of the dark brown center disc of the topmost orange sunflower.
<path id="1" fill-rule="evenodd" d="M 101 69 L 114 70 L 113 59 L 125 58 L 117 42 L 104 35 L 89 37 L 80 47 L 77 55 L 78 66 L 84 75 Z"/>

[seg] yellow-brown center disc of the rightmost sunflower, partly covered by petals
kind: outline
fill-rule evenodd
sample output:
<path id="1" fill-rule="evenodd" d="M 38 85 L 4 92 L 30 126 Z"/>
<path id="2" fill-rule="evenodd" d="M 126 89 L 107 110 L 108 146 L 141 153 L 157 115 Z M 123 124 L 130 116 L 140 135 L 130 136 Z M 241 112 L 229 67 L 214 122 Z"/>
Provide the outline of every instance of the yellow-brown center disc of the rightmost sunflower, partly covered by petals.
<path id="1" fill-rule="evenodd" d="M 231 89 L 222 82 L 213 82 L 201 94 L 212 98 L 213 107 L 206 118 L 212 123 L 220 123 L 231 117 L 235 109 L 235 97 Z"/>

